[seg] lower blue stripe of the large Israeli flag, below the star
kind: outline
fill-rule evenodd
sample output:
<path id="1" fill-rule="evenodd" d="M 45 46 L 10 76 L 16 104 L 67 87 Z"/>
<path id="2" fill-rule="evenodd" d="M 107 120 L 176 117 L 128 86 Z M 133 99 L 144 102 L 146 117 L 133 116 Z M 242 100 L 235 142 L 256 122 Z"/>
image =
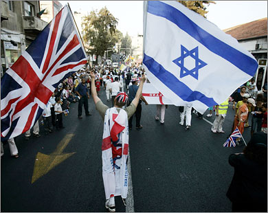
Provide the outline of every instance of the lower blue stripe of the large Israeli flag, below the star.
<path id="1" fill-rule="evenodd" d="M 199 91 L 192 91 L 187 85 L 179 81 L 173 74 L 164 69 L 159 63 L 157 63 L 153 58 L 144 54 L 144 65 L 149 69 L 149 71 L 155 75 L 161 82 L 166 85 L 170 90 L 179 96 L 182 100 L 187 102 L 192 102 L 194 100 L 199 100 L 208 107 L 217 105 L 213 98 L 206 97 L 203 93 Z"/>

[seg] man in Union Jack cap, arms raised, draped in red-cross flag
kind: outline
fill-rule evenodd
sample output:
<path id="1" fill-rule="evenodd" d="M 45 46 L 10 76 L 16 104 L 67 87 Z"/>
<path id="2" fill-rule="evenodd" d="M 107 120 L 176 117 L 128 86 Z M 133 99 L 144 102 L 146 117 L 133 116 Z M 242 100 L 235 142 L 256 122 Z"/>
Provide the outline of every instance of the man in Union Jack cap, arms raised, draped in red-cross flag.
<path id="1" fill-rule="evenodd" d="M 126 160 L 129 153 L 129 118 L 135 113 L 139 98 L 142 96 L 142 87 L 146 80 L 142 76 L 139 89 L 131 104 L 122 109 L 129 100 L 125 92 L 119 92 L 115 96 L 114 106 L 102 103 L 98 98 L 95 87 L 95 76 L 91 72 L 91 94 L 96 109 L 104 120 L 102 139 L 102 178 L 105 190 L 105 208 L 109 212 L 115 212 L 115 196 L 121 196 L 126 205 L 128 191 L 128 171 Z"/>

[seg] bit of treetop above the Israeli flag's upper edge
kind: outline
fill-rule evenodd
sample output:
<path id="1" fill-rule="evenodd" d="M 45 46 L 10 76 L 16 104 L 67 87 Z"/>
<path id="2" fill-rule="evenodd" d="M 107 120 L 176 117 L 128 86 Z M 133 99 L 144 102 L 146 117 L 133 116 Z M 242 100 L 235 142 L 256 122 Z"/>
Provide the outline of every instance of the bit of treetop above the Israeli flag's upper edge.
<path id="1" fill-rule="evenodd" d="M 215 1 L 179 1 L 179 3 L 185 5 L 190 10 L 197 12 L 198 14 L 201 14 L 201 16 L 206 18 L 205 14 L 207 14 L 208 11 L 205 11 L 205 10 L 207 10 L 208 5 L 210 5 L 210 3 L 216 3 L 216 2 Z"/>

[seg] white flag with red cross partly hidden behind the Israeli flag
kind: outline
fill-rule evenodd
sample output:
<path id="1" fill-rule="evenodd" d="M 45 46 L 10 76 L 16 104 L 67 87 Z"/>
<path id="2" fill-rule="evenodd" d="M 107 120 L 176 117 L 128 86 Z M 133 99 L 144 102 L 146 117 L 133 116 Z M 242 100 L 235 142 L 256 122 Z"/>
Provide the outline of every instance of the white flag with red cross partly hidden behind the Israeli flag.
<path id="1" fill-rule="evenodd" d="M 153 84 L 145 83 L 142 88 L 142 96 L 144 96 L 148 104 L 173 104 L 171 100 L 166 98 Z"/>

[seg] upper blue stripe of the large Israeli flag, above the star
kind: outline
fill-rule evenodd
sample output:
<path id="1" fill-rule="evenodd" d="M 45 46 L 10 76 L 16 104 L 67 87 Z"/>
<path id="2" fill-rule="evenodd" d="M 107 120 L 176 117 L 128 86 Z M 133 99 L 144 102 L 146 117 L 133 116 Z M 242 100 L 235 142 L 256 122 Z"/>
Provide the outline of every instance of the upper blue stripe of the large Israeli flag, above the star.
<path id="1" fill-rule="evenodd" d="M 256 73 L 258 67 L 256 60 L 239 52 L 237 49 L 227 45 L 218 38 L 215 38 L 176 8 L 161 1 L 148 1 L 148 12 L 168 19 L 168 21 L 177 25 L 181 30 L 199 41 L 199 43 L 207 47 L 211 52 L 229 61 L 246 74 L 254 76 Z"/>

